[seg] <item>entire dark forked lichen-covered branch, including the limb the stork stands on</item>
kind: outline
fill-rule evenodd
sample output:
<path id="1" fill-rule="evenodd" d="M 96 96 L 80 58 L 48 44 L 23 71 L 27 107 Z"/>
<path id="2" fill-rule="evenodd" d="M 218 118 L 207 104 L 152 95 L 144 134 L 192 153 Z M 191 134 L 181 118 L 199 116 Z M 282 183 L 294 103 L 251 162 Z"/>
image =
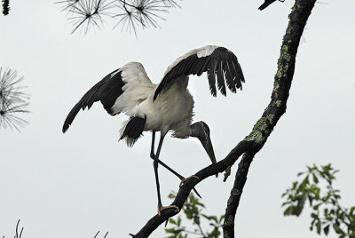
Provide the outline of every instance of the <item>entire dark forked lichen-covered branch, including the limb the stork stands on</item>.
<path id="1" fill-rule="evenodd" d="M 296 53 L 300 38 L 304 31 L 304 26 L 308 20 L 309 15 L 311 14 L 312 8 L 316 0 L 296 0 L 295 6 L 292 8 L 292 12 L 289 15 L 289 23 L 286 31 L 286 35 L 283 38 L 280 59 L 278 61 L 278 71 L 274 79 L 274 87 L 272 91 L 272 99 L 268 107 L 264 110 L 262 117 L 256 122 L 253 130 L 250 134 L 243 139 L 233 150 L 218 163 L 211 164 L 208 167 L 202 169 L 195 173 L 195 175 L 200 178 L 191 178 L 187 180 L 183 186 L 178 190 L 175 200 L 171 203 L 176 205 L 180 210 L 184 205 L 188 195 L 190 194 L 193 186 L 196 186 L 204 178 L 215 175 L 217 172 L 223 172 L 228 166 L 232 166 L 238 158 L 246 153 L 243 156 L 242 162 L 237 171 L 236 178 L 241 181 L 236 181 L 234 186 L 238 191 L 242 191 L 242 187 L 245 184 L 248 167 L 256 153 L 264 147 L 266 139 L 270 136 L 274 126 L 279 121 L 280 116 L 283 115 L 286 111 L 286 103 L 288 100 L 289 89 L 291 86 L 292 78 L 295 72 L 295 62 L 296 62 Z M 244 179 L 244 181 L 242 181 Z M 234 189 L 234 187 L 233 187 Z M 233 194 L 233 190 L 232 190 Z M 231 203 L 239 202 L 241 194 L 238 194 L 236 197 L 233 197 Z M 230 207 L 227 210 L 228 216 L 234 213 L 232 216 L 234 223 L 235 212 L 238 207 L 238 204 L 233 204 L 233 208 Z M 143 226 L 141 230 L 133 235 L 135 238 L 148 237 L 152 232 L 160 226 L 165 220 L 176 215 L 175 210 L 162 210 L 161 216 L 155 215 L 153 218 L 150 218 L 146 226 Z M 228 222 L 228 217 L 225 217 L 225 222 Z M 233 237 L 233 226 L 228 226 L 225 224 L 225 237 Z M 228 236 L 229 235 L 229 236 Z"/>

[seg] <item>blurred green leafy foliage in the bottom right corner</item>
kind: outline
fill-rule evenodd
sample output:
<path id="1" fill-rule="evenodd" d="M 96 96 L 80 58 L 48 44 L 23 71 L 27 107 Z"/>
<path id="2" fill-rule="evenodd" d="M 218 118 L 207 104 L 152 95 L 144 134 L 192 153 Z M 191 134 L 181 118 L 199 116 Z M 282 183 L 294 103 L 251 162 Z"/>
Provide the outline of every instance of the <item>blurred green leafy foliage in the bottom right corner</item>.
<path id="1" fill-rule="evenodd" d="M 307 171 L 300 172 L 297 177 L 301 178 L 293 182 L 292 186 L 286 190 L 282 197 L 286 202 L 282 203 L 286 207 L 285 216 L 299 216 L 304 210 L 304 205 L 308 201 L 312 207 L 311 230 L 316 230 L 318 234 L 328 234 L 333 227 L 338 237 L 355 237 L 355 206 L 343 208 L 339 200 L 340 191 L 334 189 L 336 171 L 331 164 L 325 166 L 307 166 Z M 324 186 L 325 185 L 325 189 Z"/>

